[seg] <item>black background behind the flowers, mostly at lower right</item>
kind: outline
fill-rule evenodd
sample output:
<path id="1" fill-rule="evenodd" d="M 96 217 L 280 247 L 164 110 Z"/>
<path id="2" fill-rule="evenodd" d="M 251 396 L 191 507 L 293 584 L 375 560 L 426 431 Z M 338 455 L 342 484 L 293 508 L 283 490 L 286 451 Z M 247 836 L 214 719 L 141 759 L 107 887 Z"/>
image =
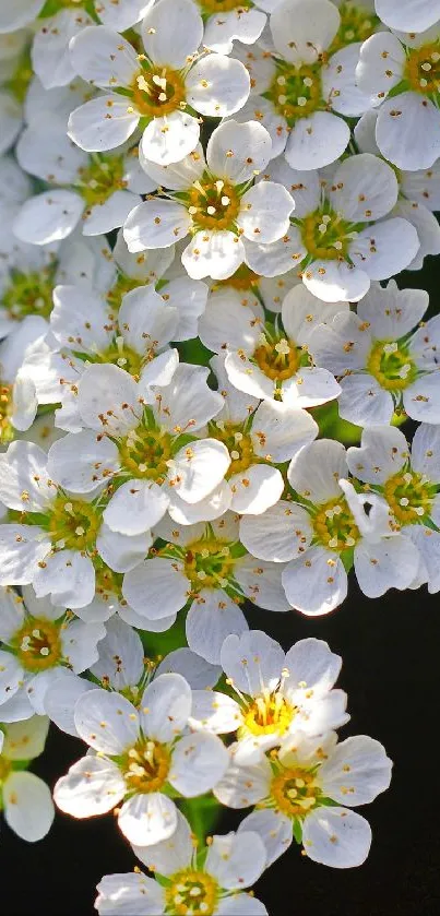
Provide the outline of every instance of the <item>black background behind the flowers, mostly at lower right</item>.
<path id="1" fill-rule="evenodd" d="M 440 270 L 433 259 L 427 265 L 423 273 L 401 275 L 399 285 L 427 288 L 435 313 Z M 338 686 L 348 693 L 352 719 L 341 737 L 371 735 L 394 760 L 391 788 L 359 809 L 373 832 L 367 863 L 337 871 L 306 859 L 294 845 L 255 888 L 271 916 L 440 913 L 439 604 L 426 588 L 369 600 L 352 578 L 344 606 L 328 617 L 251 608 L 250 626 L 270 632 L 284 649 L 314 635 L 343 656 Z M 83 748 L 53 726 L 32 769 L 53 786 Z M 236 824 L 236 814 L 226 811 L 216 832 Z M 19 840 L 4 822 L 0 833 L 2 916 L 93 916 L 103 875 L 136 864 L 111 814 L 87 821 L 57 814 L 49 835 L 35 845 Z"/>

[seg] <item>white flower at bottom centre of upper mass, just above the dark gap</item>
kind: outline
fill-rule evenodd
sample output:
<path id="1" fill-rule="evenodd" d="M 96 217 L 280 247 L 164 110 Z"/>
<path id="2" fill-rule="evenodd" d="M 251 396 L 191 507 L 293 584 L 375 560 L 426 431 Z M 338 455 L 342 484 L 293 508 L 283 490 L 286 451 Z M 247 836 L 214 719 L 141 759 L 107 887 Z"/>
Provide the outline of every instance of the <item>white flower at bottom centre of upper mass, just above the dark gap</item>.
<path id="1" fill-rule="evenodd" d="M 122 585 L 128 603 L 144 617 L 144 627 L 188 604 L 188 645 L 217 665 L 226 637 L 248 629 L 239 607 L 245 598 L 267 610 L 288 609 L 280 568 L 255 563 L 246 552 L 233 513 L 185 526 L 164 521 L 156 534 L 160 540 L 154 556 L 126 575 Z"/>

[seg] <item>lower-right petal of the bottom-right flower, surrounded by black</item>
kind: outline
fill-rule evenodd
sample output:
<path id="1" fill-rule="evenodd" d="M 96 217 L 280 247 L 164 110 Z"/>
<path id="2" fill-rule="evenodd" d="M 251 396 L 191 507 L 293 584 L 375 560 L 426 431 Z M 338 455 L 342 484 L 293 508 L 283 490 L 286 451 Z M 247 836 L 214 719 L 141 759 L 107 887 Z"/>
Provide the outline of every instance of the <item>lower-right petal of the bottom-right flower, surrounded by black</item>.
<path id="1" fill-rule="evenodd" d="M 313 861 L 354 868 L 368 856 L 371 829 L 365 818 L 346 808 L 316 808 L 305 820 L 302 842 Z"/>

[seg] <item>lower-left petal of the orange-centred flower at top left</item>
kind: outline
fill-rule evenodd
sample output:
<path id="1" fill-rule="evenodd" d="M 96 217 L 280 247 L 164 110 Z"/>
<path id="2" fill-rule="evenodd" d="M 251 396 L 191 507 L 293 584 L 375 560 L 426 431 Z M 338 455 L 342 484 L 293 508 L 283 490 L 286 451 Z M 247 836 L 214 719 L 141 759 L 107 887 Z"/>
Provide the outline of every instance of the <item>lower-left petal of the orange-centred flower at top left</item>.
<path id="1" fill-rule="evenodd" d="M 95 26 L 94 26 L 95 27 Z M 119 95 L 99 95 L 72 111 L 68 136 L 88 153 L 115 150 L 134 133 L 139 115 Z"/>

